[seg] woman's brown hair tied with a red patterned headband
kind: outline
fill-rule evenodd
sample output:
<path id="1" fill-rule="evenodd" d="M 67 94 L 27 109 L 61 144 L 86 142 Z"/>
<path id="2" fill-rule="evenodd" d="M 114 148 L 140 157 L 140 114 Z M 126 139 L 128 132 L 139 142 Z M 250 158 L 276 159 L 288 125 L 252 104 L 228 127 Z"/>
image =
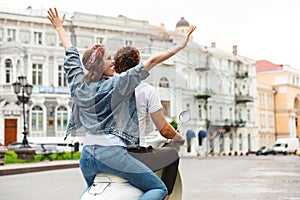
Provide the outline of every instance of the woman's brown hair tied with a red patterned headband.
<path id="1" fill-rule="evenodd" d="M 90 66 L 88 68 L 86 66 L 88 60 L 92 56 L 92 53 L 97 48 L 103 48 L 103 47 L 94 45 L 94 46 L 88 48 L 87 50 L 85 50 L 85 52 L 83 53 L 83 56 L 82 56 L 82 63 L 85 66 L 85 68 L 88 70 L 88 73 L 85 74 L 85 76 L 84 76 L 84 81 L 86 83 L 97 82 L 97 81 L 99 81 L 103 78 L 103 73 L 104 73 L 104 70 L 103 70 L 103 56 L 104 56 L 104 53 L 105 53 L 104 48 L 103 48 L 103 50 L 100 51 L 100 54 L 97 56 L 95 61 L 92 64 L 90 64 Z"/>

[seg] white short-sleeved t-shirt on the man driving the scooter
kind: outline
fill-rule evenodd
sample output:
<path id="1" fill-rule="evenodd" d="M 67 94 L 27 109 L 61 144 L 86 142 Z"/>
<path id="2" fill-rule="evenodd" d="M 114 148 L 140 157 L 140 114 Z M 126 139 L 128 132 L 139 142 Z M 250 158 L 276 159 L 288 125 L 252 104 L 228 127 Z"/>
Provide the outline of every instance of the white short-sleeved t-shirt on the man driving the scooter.
<path id="1" fill-rule="evenodd" d="M 136 107 L 139 119 L 140 146 L 147 146 L 146 137 L 151 133 L 147 129 L 150 114 L 163 108 L 156 89 L 148 83 L 142 82 L 135 89 Z"/>

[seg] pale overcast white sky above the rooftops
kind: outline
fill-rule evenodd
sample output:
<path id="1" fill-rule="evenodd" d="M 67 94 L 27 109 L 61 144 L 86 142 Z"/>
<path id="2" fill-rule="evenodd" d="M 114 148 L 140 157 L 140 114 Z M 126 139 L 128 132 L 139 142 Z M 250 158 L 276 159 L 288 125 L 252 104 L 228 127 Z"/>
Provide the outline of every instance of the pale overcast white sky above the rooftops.
<path id="1" fill-rule="evenodd" d="M 255 60 L 300 69 L 299 0 L 1 0 L 0 8 L 25 10 L 56 7 L 72 15 L 86 12 L 146 20 L 174 30 L 184 17 L 196 25 L 194 40 Z"/>

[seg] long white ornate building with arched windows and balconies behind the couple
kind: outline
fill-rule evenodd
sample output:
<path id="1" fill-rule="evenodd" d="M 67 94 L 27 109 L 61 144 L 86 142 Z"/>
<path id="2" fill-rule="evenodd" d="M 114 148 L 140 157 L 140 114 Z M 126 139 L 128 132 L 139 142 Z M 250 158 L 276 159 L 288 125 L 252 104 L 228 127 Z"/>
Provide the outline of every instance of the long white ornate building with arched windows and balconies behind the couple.
<path id="1" fill-rule="evenodd" d="M 20 75 L 33 85 L 25 107 L 29 136 L 65 134 L 72 101 L 63 70 L 64 49 L 46 13 L 0 12 L 1 143 L 23 137 L 22 108 L 12 89 Z M 95 43 L 103 43 L 112 55 L 118 47 L 133 45 L 144 60 L 181 41 L 189 25 L 181 20 L 169 31 L 163 24 L 152 26 L 125 16 L 74 12 L 64 27 L 80 54 Z M 190 153 L 246 153 L 258 147 L 255 66 L 253 59 L 237 54 L 236 46 L 227 52 L 215 43 L 207 47 L 191 41 L 178 55 L 155 67 L 146 81 L 158 90 L 170 120 L 178 121 L 182 110 L 190 111 L 191 120 L 180 129 L 185 135 L 194 132 Z M 195 142 L 199 138 L 201 145 Z"/>

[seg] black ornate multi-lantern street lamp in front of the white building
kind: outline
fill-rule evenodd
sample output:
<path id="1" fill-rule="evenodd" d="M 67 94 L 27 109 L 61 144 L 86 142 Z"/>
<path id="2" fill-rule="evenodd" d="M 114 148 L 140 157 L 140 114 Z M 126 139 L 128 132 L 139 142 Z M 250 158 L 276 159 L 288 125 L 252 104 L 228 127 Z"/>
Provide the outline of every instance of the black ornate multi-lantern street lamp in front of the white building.
<path id="1" fill-rule="evenodd" d="M 23 148 L 30 148 L 27 140 L 27 127 L 26 127 L 26 118 L 25 118 L 25 104 L 29 101 L 30 95 L 32 93 L 32 85 L 27 83 L 26 76 L 19 76 L 19 81 L 16 81 L 12 84 L 14 88 L 15 94 L 18 96 L 19 102 L 23 104 L 23 141 L 22 141 L 22 147 Z"/>

